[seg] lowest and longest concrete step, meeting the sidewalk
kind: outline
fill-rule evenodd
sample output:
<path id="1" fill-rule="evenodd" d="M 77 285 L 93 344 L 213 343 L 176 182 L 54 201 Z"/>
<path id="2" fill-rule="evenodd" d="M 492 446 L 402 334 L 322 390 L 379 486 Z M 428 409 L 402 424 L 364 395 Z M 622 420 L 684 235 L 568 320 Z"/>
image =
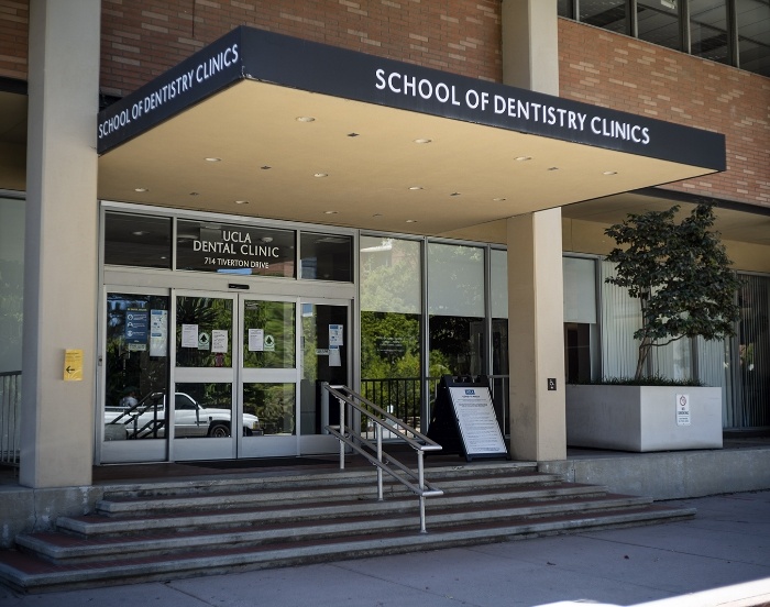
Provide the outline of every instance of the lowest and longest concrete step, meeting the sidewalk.
<path id="1" fill-rule="evenodd" d="M 0 580 L 19 592 L 103 586 L 354 559 L 374 554 L 433 550 L 494 541 L 525 539 L 578 530 L 647 525 L 692 517 L 693 510 L 659 506 L 603 510 L 591 516 L 552 516 L 477 522 L 429 533 L 396 531 L 382 536 L 346 536 L 317 541 L 265 543 L 258 547 L 200 549 L 178 555 L 156 554 L 105 562 L 56 565 L 20 551 L 0 553 Z"/>

